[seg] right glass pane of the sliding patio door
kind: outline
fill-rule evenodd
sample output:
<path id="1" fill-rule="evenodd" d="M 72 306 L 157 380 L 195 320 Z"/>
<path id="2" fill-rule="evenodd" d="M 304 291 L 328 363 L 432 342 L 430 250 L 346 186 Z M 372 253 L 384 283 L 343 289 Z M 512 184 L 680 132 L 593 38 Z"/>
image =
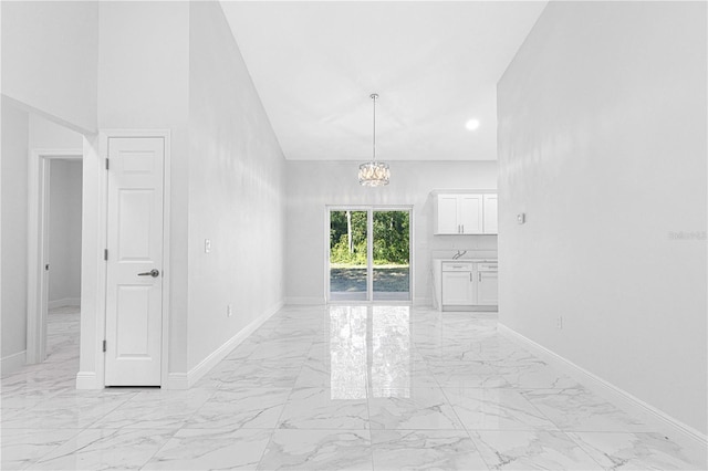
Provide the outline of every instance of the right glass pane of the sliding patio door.
<path id="1" fill-rule="evenodd" d="M 410 300 L 410 211 L 373 211 L 373 300 Z"/>

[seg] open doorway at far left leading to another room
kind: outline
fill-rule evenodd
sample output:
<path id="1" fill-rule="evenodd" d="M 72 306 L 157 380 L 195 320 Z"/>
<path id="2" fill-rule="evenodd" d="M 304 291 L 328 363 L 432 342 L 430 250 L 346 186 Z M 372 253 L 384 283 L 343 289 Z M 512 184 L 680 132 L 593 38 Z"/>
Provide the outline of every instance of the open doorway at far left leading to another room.
<path id="1" fill-rule="evenodd" d="M 83 150 L 32 151 L 29 172 L 27 363 L 77 369 Z"/>

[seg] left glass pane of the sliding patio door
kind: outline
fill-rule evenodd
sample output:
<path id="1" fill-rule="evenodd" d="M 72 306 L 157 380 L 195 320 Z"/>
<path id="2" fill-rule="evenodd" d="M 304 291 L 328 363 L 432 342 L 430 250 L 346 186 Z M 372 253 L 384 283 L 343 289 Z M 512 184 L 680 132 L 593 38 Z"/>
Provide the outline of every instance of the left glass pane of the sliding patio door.
<path id="1" fill-rule="evenodd" d="M 330 211 L 330 300 L 368 300 L 368 211 Z"/>

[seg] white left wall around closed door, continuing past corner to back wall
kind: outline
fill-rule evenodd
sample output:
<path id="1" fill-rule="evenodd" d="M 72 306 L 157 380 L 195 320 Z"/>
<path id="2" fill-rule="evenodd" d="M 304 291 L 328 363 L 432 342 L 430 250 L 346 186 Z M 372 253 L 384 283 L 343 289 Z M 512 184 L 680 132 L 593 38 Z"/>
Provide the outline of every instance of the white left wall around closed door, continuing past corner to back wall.
<path id="1" fill-rule="evenodd" d="M 98 103 L 101 128 L 171 132 L 169 373 L 187 374 L 282 302 L 283 157 L 218 3 L 101 3 Z M 95 142 L 87 158 L 101 178 Z M 90 212 L 84 234 L 100 231 Z M 84 331 L 91 318 L 91 352 Z"/>

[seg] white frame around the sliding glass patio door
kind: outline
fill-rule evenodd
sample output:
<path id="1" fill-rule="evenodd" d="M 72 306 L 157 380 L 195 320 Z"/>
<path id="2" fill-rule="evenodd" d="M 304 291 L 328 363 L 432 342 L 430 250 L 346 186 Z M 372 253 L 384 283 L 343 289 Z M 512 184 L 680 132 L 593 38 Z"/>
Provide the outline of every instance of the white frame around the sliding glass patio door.
<path id="1" fill-rule="evenodd" d="M 330 299 L 330 212 L 331 211 L 366 211 L 366 301 L 332 301 Z M 374 300 L 374 241 L 368 236 L 373 230 L 374 211 L 408 211 L 408 301 Z M 324 300 L 325 304 L 410 304 L 414 301 L 415 266 L 415 207 L 413 205 L 326 205 L 324 207 Z M 373 234 L 372 234 L 373 236 Z"/>

